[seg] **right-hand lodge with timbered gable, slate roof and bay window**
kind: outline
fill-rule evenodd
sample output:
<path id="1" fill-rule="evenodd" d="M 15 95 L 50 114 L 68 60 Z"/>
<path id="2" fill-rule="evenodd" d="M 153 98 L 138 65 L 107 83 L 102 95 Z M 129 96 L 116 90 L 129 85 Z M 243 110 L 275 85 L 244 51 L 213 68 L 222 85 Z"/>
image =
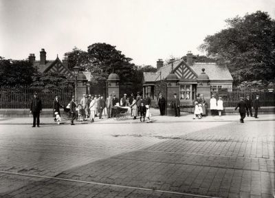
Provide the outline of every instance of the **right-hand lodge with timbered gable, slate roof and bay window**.
<path id="1" fill-rule="evenodd" d="M 155 93 L 155 85 L 160 80 L 166 80 L 173 73 L 177 78 L 177 95 L 181 104 L 191 104 L 197 93 L 197 78 L 205 69 L 209 76 L 211 94 L 217 94 L 219 88 L 232 89 L 233 78 L 226 66 L 216 63 L 193 63 L 192 54 L 188 52 L 187 63 L 184 60 L 172 61 L 164 65 L 162 59 L 157 61 L 157 72 L 144 72 L 143 93 L 148 93 L 153 100 L 157 100 L 159 93 Z M 170 78 L 170 75 L 169 77 Z"/>

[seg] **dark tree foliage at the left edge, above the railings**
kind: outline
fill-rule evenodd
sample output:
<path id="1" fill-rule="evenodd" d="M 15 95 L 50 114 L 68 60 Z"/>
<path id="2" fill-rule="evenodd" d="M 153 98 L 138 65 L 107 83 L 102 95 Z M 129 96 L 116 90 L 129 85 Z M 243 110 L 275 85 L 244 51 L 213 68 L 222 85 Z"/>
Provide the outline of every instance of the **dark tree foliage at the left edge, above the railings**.
<path id="1" fill-rule="evenodd" d="M 0 86 L 30 85 L 36 72 L 29 61 L 0 60 Z"/>

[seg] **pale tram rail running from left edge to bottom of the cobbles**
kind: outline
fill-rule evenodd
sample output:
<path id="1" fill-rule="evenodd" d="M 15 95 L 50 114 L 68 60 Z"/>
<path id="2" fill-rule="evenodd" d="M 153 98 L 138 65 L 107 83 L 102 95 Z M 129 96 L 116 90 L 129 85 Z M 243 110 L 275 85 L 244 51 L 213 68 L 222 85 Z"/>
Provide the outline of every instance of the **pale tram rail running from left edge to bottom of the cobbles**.
<path id="1" fill-rule="evenodd" d="M 61 180 L 61 181 L 71 181 L 71 182 L 78 182 L 78 183 L 84 183 L 84 184 L 98 184 L 98 185 L 102 185 L 102 186 L 113 186 L 113 187 L 119 187 L 119 188 L 131 188 L 131 189 L 135 189 L 135 190 L 162 192 L 162 193 L 168 193 L 168 194 L 174 194 L 174 195 L 186 195 L 186 196 L 205 197 L 205 198 L 210 198 L 211 197 L 211 196 L 207 196 L 207 195 L 195 195 L 195 194 L 186 193 L 186 192 L 175 192 L 175 191 L 168 191 L 168 190 L 157 190 L 157 189 L 153 189 L 153 188 L 142 188 L 142 187 L 124 186 L 124 185 L 118 185 L 118 184 L 107 184 L 107 183 L 101 183 L 101 182 L 96 182 L 96 181 L 63 179 L 63 178 L 60 178 L 60 177 L 48 177 L 48 176 L 42 176 L 42 175 L 29 175 L 29 174 L 24 174 L 24 173 L 14 173 L 14 172 L 8 172 L 8 171 L 3 171 L 3 170 L 0 170 L 0 173 L 10 174 L 10 175 L 19 175 L 19 176 L 25 176 L 25 177 L 37 177 L 37 178 L 42 178 L 42 179 L 56 179 L 56 180 Z M 218 197 L 213 197 L 213 198 L 218 198 Z"/>

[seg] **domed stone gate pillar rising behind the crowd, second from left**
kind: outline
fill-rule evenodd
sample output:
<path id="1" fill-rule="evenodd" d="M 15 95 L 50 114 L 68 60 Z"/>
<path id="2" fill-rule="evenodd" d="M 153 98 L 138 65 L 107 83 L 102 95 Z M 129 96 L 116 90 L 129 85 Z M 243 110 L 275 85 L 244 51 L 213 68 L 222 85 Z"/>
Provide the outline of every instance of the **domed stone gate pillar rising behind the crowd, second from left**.
<path id="1" fill-rule="evenodd" d="M 120 77 L 118 74 L 111 73 L 106 80 L 106 87 L 107 87 L 107 96 L 109 94 L 115 95 L 118 100 L 120 100 Z"/>

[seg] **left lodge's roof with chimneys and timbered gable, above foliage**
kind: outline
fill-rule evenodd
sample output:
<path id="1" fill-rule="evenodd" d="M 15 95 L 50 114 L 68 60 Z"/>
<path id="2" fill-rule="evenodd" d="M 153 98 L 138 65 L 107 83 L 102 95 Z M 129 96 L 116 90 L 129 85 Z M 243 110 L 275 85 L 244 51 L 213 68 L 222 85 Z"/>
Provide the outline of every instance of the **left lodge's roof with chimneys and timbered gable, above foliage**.
<path id="1" fill-rule="evenodd" d="M 34 54 L 30 54 L 29 61 L 31 61 L 34 67 L 37 67 L 38 71 L 41 73 L 52 72 L 55 74 L 64 74 L 69 80 L 75 79 L 74 74 L 67 67 L 68 62 L 66 59 L 61 62 L 57 56 L 56 60 L 47 60 L 46 54 L 47 52 L 45 52 L 44 49 L 41 49 L 40 60 L 36 61 Z"/>

